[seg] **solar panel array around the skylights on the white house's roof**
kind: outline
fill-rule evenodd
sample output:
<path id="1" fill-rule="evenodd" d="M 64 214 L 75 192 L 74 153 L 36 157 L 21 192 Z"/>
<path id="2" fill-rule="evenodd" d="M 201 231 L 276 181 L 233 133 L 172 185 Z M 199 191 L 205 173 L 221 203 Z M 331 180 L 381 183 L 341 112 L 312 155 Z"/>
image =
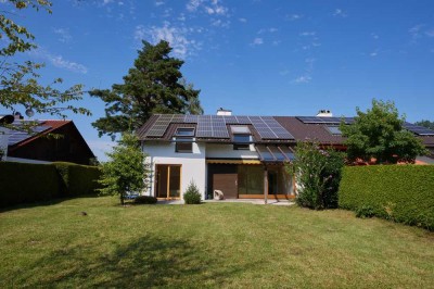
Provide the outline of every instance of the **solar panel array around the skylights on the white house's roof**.
<path id="1" fill-rule="evenodd" d="M 263 139 L 294 139 L 272 116 L 162 114 L 157 117 L 146 137 L 163 137 L 171 123 L 188 123 L 197 124 L 199 138 L 230 138 L 227 125 L 253 125 Z"/>

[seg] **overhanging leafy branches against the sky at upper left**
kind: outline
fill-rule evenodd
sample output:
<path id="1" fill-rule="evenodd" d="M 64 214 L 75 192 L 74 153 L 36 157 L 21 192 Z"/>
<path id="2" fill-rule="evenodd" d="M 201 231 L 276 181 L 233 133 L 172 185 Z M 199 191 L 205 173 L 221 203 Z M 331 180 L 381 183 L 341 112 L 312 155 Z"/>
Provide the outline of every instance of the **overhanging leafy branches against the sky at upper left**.
<path id="1" fill-rule="evenodd" d="M 46 10 L 51 13 L 52 3 L 47 0 L 8 0 L 9 4 L 17 10 L 27 8 L 36 11 Z M 31 108 L 38 113 L 50 113 L 65 116 L 64 111 L 90 115 L 90 111 L 67 104 L 73 100 L 80 100 L 82 86 L 75 85 L 66 90 L 55 88 L 62 78 L 54 79 L 51 85 L 44 86 L 38 83 L 40 74 L 38 70 L 43 64 L 25 61 L 23 63 L 11 62 L 11 56 L 37 48 L 31 41 L 34 35 L 24 26 L 20 26 L 12 18 L 7 17 L 8 12 L 0 12 L 0 39 L 5 46 L 0 49 L 0 106 L 14 110 L 15 106 Z"/>

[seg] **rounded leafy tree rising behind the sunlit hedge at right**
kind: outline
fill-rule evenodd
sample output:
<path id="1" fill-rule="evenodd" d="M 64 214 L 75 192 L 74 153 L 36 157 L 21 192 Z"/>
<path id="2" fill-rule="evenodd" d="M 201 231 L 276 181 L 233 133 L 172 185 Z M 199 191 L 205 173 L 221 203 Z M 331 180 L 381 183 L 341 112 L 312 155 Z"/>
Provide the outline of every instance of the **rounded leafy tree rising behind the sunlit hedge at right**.
<path id="1" fill-rule="evenodd" d="M 405 117 L 393 102 L 374 99 L 367 112 L 356 111 L 353 125 L 341 123 L 349 162 L 375 159 L 378 164 L 414 163 L 418 155 L 427 154 L 422 141 L 404 129 Z"/>

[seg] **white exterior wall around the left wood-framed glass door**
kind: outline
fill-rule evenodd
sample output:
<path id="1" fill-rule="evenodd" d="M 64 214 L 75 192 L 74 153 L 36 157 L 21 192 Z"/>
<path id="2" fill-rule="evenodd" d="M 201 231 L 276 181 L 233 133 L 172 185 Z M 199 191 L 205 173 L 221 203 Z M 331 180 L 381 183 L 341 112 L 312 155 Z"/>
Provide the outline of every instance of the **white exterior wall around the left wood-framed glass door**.
<path id="1" fill-rule="evenodd" d="M 145 196 L 155 194 L 155 165 L 157 164 L 178 164 L 181 165 L 181 198 L 190 181 L 194 181 L 205 199 L 206 191 L 206 162 L 205 144 L 193 142 L 192 153 L 175 152 L 175 142 L 144 142 L 142 150 L 149 156 L 146 162 L 150 164 L 151 174 L 146 180 L 149 189 L 144 191 Z"/>

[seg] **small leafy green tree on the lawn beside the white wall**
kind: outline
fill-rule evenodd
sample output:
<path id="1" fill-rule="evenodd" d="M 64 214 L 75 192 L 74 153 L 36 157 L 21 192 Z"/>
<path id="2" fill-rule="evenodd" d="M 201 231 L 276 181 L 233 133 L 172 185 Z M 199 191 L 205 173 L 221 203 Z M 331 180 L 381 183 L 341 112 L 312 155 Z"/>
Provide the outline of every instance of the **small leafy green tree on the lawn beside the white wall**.
<path id="1" fill-rule="evenodd" d="M 124 133 L 118 144 L 107 153 L 110 161 L 101 164 L 102 175 L 99 183 L 103 186 L 101 194 L 119 194 L 120 204 L 130 191 L 145 188 L 144 179 L 149 172 L 144 163 L 145 155 L 140 149 L 136 135 Z"/>

